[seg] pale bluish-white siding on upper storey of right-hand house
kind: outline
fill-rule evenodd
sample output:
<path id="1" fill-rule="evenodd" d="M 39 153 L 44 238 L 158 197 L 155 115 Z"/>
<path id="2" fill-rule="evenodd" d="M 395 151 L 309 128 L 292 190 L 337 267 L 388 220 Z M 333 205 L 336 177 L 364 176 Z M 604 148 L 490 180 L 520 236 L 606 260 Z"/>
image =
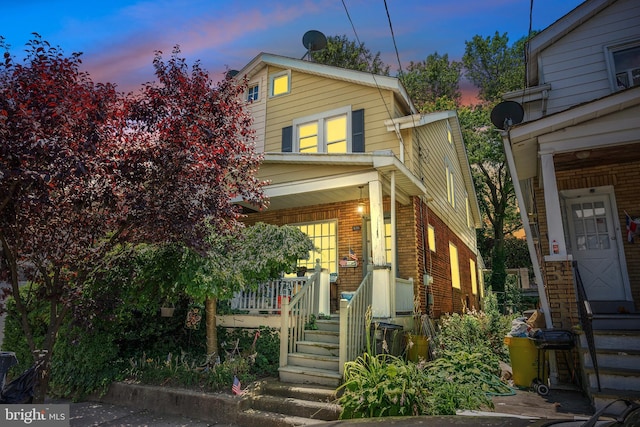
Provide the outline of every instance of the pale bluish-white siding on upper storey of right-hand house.
<path id="1" fill-rule="evenodd" d="M 606 46 L 640 38 L 640 2 L 618 1 L 540 55 L 540 84 L 551 83 L 547 113 L 614 91 Z"/>

